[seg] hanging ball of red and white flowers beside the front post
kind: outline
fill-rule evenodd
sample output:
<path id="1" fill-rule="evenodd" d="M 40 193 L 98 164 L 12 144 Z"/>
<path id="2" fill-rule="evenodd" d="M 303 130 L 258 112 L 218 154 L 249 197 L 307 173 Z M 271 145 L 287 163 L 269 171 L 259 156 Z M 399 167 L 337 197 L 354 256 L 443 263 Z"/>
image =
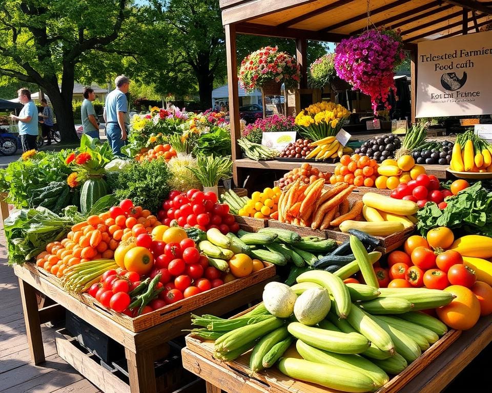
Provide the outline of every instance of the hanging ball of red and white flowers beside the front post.
<path id="1" fill-rule="evenodd" d="M 284 83 L 286 89 L 292 89 L 299 83 L 300 68 L 291 55 L 279 52 L 276 47 L 264 47 L 242 60 L 238 77 L 247 93 L 272 81 Z"/>

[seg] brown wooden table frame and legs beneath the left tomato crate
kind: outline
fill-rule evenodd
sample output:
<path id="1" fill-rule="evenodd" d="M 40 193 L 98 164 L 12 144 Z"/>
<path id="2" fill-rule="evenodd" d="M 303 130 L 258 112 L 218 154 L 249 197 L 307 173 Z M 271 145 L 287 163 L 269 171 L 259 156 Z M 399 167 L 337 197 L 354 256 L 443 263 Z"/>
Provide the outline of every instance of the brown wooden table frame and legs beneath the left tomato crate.
<path id="1" fill-rule="evenodd" d="M 15 266 L 14 272 L 19 279 L 26 333 L 31 359 L 34 364 L 38 365 L 45 361 L 40 324 L 50 321 L 55 317 L 63 318 L 65 309 L 67 309 L 125 347 L 130 386 L 128 387 L 124 383 L 120 384 L 124 385 L 122 387 L 109 386 L 110 391 L 128 391 L 131 393 L 156 392 L 154 362 L 162 358 L 160 346 L 173 338 L 181 336 L 183 329 L 190 329 L 189 313 L 172 318 L 153 328 L 134 333 L 119 323 L 116 323 L 111 318 L 101 314 L 99 311 L 89 307 L 89 305 L 72 297 L 37 271 Z M 198 315 L 223 315 L 224 313 L 235 310 L 241 305 L 261 298 L 265 283 L 272 279 L 274 278 L 260 281 L 251 287 L 244 288 L 201 307 L 198 305 L 194 313 Z M 36 290 L 53 299 L 57 304 L 38 310 Z M 100 381 L 100 379 L 94 380 L 94 378 L 97 378 L 97 373 L 89 373 L 90 370 L 88 370 L 88 373 L 85 374 L 86 367 L 87 365 L 81 365 L 77 369 L 91 382 L 97 384 Z"/>

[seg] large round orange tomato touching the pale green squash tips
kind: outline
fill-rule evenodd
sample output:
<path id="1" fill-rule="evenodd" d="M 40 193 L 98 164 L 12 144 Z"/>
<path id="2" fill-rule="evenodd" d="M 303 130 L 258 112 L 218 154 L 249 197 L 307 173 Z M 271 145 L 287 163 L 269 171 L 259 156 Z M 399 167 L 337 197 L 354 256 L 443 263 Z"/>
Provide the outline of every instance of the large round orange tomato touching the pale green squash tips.
<path id="1" fill-rule="evenodd" d="M 452 285 L 444 289 L 456 297 L 447 305 L 436 310 L 441 321 L 451 329 L 467 330 L 473 328 L 480 318 L 480 302 L 468 288 Z"/>

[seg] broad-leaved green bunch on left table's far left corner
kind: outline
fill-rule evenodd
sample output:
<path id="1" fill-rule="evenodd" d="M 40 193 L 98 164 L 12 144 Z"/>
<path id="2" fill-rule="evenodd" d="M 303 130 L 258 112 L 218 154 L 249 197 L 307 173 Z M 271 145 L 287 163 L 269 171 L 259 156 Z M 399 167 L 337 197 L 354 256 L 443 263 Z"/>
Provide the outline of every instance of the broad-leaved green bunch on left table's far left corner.
<path id="1" fill-rule="evenodd" d="M 72 225 L 83 220 L 75 206 L 64 215 L 38 207 L 13 212 L 4 222 L 9 265 L 22 265 L 42 252 L 50 242 L 64 238 Z"/>

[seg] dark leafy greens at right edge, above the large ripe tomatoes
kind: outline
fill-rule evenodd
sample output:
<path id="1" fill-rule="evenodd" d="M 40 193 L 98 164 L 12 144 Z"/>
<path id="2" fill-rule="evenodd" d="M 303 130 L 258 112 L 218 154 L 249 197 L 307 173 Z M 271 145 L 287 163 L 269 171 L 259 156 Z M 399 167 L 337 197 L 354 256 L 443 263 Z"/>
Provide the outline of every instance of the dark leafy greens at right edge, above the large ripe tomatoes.
<path id="1" fill-rule="evenodd" d="M 417 229 L 425 235 L 430 229 L 460 228 L 465 233 L 492 236 L 492 192 L 481 182 L 465 188 L 446 199 L 447 207 L 439 209 L 435 203 L 426 203 L 417 213 Z"/>

